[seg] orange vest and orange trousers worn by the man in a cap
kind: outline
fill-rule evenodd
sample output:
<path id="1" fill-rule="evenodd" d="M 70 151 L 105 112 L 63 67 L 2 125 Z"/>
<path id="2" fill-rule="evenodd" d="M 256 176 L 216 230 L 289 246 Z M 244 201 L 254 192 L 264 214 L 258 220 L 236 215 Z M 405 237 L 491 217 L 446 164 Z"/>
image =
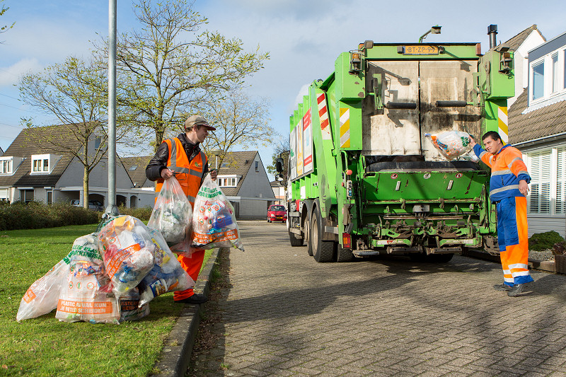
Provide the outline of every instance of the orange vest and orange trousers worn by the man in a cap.
<path id="1" fill-rule="evenodd" d="M 179 181 L 181 187 L 189 202 L 192 206 L 195 205 L 195 198 L 199 192 L 200 185 L 202 182 L 202 175 L 204 172 L 204 166 L 207 164 L 207 155 L 203 151 L 200 151 L 195 158 L 189 161 L 187 153 L 183 148 L 180 140 L 176 137 L 173 139 L 167 139 L 165 141 L 169 149 L 169 158 L 167 160 L 167 168 L 175 172 L 175 178 Z M 158 192 L 161 191 L 163 187 L 163 179 L 157 180 L 156 185 L 156 197 Z M 190 257 L 185 257 L 183 255 L 178 256 L 178 260 L 181 267 L 185 269 L 187 274 L 196 282 L 199 277 L 200 267 L 202 267 L 202 262 L 204 260 L 204 250 L 195 250 Z M 192 288 L 185 289 L 185 291 L 175 291 L 173 294 L 173 300 L 179 301 L 185 298 L 189 298 L 195 294 Z"/>

